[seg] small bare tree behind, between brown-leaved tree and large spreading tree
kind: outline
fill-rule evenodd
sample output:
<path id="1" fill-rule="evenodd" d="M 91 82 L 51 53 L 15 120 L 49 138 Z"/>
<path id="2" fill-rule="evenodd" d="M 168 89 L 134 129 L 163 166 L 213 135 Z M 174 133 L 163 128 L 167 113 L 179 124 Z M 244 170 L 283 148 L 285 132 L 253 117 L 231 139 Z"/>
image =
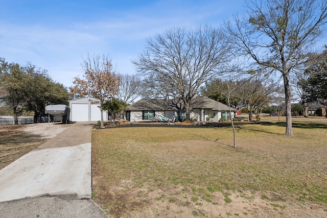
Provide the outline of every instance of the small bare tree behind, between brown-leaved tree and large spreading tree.
<path id="1" fill-rule="evenodd" d="M 142 80 L 137 75 L 119 74 L 121 78 L 120 89 L 116 98 L 126 104 L 131 104 L 142 92 Z"/>

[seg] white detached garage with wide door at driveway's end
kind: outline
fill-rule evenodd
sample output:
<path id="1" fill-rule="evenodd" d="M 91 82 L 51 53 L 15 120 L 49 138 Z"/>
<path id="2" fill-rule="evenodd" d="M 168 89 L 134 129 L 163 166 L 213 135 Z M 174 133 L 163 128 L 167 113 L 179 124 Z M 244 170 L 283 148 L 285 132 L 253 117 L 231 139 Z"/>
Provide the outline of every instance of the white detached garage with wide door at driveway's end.
<path id="1" fill-rule="evenodd" d="M 95 98 L 81 98 L 69 101 L 71 108 L 71 121 L 98 121 L 101 120 L 100 104 L 93 104 L 97 102 Z M 108 113 L 103 111 L 103 120 L 108 120 Z"/>

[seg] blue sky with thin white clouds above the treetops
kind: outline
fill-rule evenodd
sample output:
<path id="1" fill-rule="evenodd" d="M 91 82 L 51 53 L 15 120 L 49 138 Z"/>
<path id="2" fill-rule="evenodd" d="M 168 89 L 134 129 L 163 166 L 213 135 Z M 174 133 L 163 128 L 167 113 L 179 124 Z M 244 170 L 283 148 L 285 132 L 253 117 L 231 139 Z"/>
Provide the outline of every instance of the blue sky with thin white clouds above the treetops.
<path id="1" fill-rule="evenodd" d="M 242 14 L 244 0 L 2 1 L 0 57 L 47 69 L 56 82 L 72 86 L 82 76 L 87 53 L 108 54 L 116 70 L 135 74 L 131 59 L 146 39 L 176 26 L 219 27 Z"/>

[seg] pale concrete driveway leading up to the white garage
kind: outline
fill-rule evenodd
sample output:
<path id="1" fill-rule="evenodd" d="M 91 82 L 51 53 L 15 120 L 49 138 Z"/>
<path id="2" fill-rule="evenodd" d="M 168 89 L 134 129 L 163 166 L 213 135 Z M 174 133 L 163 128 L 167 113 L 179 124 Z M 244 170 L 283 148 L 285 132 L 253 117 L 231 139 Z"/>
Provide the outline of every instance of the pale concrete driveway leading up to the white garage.
<path id="1" fill-rule="evenodd" d="M 3 217 L 105 217 L 91 193 L 90 123 L 71 125 L 0 171 Z"/>

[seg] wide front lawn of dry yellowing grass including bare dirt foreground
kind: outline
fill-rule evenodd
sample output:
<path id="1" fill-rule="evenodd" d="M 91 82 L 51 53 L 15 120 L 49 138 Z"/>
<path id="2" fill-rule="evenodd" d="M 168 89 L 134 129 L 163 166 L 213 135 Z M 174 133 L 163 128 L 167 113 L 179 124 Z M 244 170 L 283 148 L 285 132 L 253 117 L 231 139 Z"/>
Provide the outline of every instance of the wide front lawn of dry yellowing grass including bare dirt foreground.
<path id="1" fill-rule="evenodd" d="M 93 198 L 112 217 L 327 215 L 327 125 L 92 131 Z"/>

